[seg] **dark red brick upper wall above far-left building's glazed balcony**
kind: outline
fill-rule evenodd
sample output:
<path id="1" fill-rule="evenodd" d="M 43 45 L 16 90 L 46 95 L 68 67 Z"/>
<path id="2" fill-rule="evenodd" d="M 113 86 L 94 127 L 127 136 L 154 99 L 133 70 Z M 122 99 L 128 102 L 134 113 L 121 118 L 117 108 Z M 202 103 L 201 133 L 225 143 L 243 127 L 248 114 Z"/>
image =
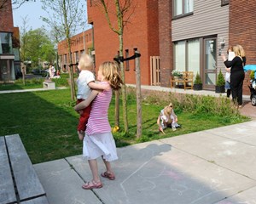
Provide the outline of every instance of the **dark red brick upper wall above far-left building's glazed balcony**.
<path id="1" fill-rule="evenodd" d="M 3 5 L 0 10 L 0 31 L 13 32 L 14 31 L 14 20 L 11 0 Z"/>

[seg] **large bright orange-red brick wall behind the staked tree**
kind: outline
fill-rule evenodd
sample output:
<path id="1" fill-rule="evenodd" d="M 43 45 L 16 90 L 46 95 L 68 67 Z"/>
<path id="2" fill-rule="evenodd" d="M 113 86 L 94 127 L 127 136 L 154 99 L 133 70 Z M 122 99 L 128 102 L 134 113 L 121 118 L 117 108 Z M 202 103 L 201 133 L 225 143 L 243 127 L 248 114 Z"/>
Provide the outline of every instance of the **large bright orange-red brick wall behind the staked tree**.
<path id="1" fill-rule="evenodd" d="M 158 40 L 158 1 L 134 1 L 137 3 L 134 12 L 131 14 L 130 23 L 125 26 L 124 31 L 124 56 L 125 49 L 129 55 L 133 55 L 134 48 L 142 54 L 141 82 L 143 85 L 150 84 L 150 56 L 159 56 Z M 113 5 L 110 8 L 115 10 Z M 133 9 L 131 9 L 133 10 Z M 117 20 L 112 15 L 113 26 L 117 28 Z M 88 2 L 88 19 L 94 26 L 94 44 L 96 51 L 96 69 L 105 60 L 113 60 L 119 50 L 119 37 L 110 30 L 106 17 L 99 7 L 90 6 Z M 134 60 L 129 62 L 130 70 L 125 71 L 125 82 L 136 83 L 134 71 Z"/>

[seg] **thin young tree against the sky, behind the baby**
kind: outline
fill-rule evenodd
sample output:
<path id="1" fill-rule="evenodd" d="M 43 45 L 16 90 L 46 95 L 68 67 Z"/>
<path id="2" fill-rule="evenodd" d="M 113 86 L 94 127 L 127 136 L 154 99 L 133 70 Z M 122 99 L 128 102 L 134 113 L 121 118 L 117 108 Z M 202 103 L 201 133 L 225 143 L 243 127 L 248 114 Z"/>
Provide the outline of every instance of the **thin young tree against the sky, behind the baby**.
<path id="1" fill-rule="evenodd" d="M 49 26 L 55 28 L 55 33 L 64 34 L 67 39 L 67 48 L 69 53 L 69 78 L 71 82 L 71 99 L 75 100 L 75 86 L 73 78 L 73 59 L 71 53 L 71 37 L 80 28 L 84 28 L 84 4 L 79 0 L 41 0 L 44 4 L 43 9 L 54 11 L 49 17 L 43 20 Z"/>

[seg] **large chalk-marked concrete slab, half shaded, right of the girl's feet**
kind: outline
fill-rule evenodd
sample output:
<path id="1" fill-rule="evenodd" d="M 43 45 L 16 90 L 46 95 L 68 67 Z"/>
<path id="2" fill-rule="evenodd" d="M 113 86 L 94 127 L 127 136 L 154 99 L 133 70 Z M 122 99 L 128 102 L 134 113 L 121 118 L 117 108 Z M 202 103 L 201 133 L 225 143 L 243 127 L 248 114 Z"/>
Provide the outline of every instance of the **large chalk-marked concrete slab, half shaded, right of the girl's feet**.
<path id="1" fill-rule="evenodd" d="M 256 185 L 253 179 L 160 141 L 120 148 L 118 154 L 113 162 L 116 179 L 102 178 L 103 188 L 94 190 L 105 204 L 214 203 Z M 90 180 L 90 168 L 81 156 L 67 161 Z M 98 164 L 104 171 L 102 162 Z"/>

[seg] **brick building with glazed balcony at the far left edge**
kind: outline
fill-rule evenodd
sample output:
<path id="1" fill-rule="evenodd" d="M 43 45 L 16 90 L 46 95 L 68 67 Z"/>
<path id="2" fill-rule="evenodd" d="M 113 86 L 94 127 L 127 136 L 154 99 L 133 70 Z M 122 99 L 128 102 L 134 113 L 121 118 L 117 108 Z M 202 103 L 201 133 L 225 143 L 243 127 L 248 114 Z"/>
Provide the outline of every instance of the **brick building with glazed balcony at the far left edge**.
<path id="1" fill-rule="evenodd" d="M 11 0 L 0 1 L 0 82 L 11 82 L 20 71 L 19 28 L 14 27 Z"/>

